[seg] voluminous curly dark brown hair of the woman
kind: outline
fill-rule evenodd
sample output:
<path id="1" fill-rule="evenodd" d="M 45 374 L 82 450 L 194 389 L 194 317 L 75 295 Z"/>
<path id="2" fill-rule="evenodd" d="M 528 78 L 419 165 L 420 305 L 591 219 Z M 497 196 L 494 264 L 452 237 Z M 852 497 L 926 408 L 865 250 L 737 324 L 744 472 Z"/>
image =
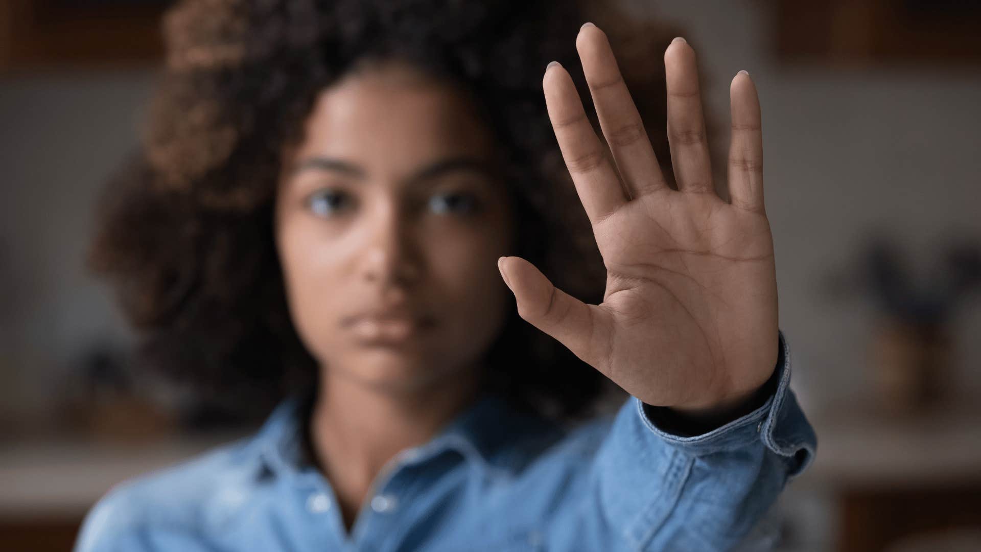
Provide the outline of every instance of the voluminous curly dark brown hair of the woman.
<path id="1" fill-rule="evenodd" d="M 101 198 L 88 254 L 140 336 L 138 365 L 247 417 L 315 388 L 317 363 L 287 310 L 273 202 L 284 148 L 303 138 L 318 92 L 369 58 L 397 57 L 472 91 L 510 155 L 516 254 L 573 296 L 601 302 L 602 259 L 542 95 L 545 65 L 556 60 L 589 104 L 575 51 L 586 21 L 610 37 L 670 179 L 664 72 L 654 61 L 676 33 L 613 7 L 186 0 L 172 8 L 141 147 Z M 588 414 L 607 380 L 512 310 L 488 353 L 487 388 L 540 414 Z"/>

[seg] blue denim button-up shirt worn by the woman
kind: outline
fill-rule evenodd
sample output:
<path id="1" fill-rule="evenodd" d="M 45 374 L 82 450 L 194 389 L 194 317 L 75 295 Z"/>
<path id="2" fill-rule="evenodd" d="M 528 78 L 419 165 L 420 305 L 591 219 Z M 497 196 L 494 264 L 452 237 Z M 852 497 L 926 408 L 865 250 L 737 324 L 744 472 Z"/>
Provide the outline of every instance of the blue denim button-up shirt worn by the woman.
<path id="1" fill-rule="evenodd" d="M 816 447 L 789 359 L 781 333 L 774 394 L 696 436 L 633 397 L 571 428 L 487 397 L 392 459 L 349 534 L 287 400 L 254 436 L 114 487 L 76 551 L 769 548 L 759 522 Z"/>

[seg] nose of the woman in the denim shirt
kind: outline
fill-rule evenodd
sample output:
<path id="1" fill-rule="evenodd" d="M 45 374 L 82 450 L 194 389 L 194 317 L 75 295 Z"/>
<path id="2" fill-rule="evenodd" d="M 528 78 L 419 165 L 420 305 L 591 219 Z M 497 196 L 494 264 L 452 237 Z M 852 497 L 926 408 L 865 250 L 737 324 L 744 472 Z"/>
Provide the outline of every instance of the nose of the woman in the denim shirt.
<path id="1" fill-rule="evenodd" d="M 386 202 L 372 220 L 362 273 L 383 287 L 405 287 L 418 280 L 421 266 L 411 221 L 394 202 Z"/>

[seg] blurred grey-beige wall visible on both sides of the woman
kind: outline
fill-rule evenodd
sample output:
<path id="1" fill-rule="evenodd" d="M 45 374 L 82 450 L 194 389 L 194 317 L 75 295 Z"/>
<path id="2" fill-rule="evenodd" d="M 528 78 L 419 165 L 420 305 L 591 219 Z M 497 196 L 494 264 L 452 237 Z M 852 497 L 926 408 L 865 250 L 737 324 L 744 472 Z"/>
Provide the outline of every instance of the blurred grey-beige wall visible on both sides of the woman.
<path id="1" fill-rule="evenodd" d="M 765 2 L 624 1 L 639 17 L 688 29 L 717 116 L 728 116 L 732 76 L 752 75 L 795 389 L 809 410 L 860 398 L 874 310 L 829 298 L 822 278 L 848 265 L 872 228 L 901 237 L 924 273 L 935 240 L 981 237 L 981 72 L 779 67 Z M 0 77 L 0 418 L 42 419 L 88 343 L 129 340 L 108 290 L 80 262 L 95 193 L 136 143 L 152 78 Z M 981 302 L 971 306 L 958 326 L 957 371 L 976 393 Z"/>

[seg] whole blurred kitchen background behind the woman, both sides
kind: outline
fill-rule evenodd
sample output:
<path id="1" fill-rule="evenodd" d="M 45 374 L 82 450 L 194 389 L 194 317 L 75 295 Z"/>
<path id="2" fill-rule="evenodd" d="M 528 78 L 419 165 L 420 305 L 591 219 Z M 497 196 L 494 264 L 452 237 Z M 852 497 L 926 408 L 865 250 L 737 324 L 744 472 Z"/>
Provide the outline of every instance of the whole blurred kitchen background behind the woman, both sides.
<path id="1" fill-rule="evenodd" d="M 716 116 L 737 71 L 759 89 L 780 326 L 819 439 L 780 549 L 981 550 L 981 1 L 620 2 L 686 29 Z M 168 4 L 0 0 L 4 549 L 68 549 L 112 484 L 250 429 L 133 377 L 82 267 Z"/>

